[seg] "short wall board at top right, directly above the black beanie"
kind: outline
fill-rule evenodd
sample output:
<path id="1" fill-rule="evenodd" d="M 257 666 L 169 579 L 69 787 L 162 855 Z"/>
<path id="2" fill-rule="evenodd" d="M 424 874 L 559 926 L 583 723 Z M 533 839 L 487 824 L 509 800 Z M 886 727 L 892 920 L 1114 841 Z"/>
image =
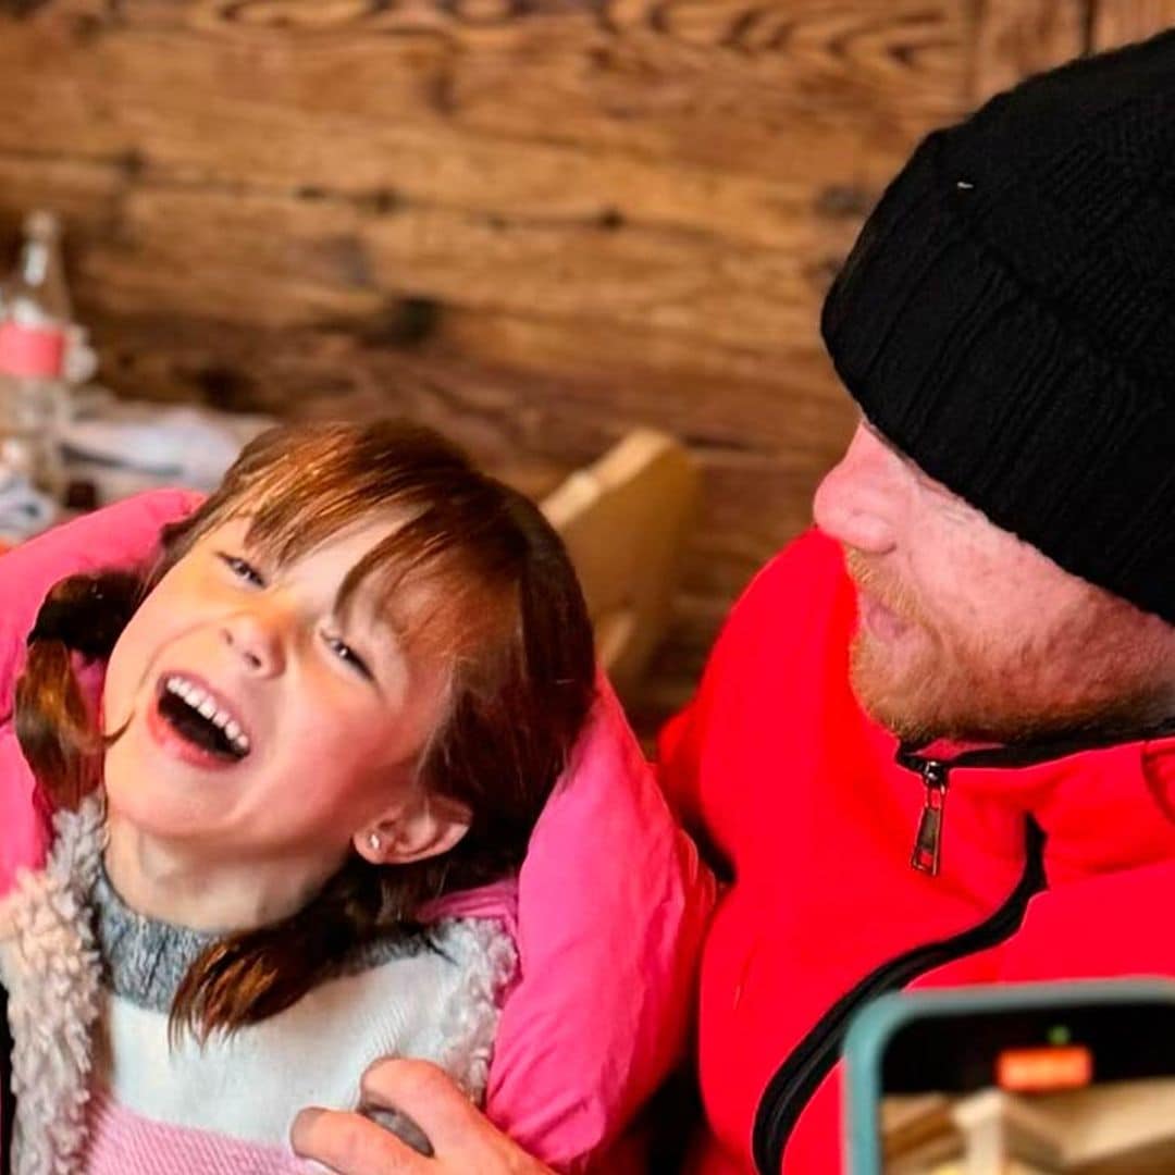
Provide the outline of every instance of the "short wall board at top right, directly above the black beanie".
<path id="1" fill-rule="evenodd" d="M 1092 0 L 981 0 L 973 9 L 974 106 L 1029 74 L 1050 69 L 1088 48 Z"/>

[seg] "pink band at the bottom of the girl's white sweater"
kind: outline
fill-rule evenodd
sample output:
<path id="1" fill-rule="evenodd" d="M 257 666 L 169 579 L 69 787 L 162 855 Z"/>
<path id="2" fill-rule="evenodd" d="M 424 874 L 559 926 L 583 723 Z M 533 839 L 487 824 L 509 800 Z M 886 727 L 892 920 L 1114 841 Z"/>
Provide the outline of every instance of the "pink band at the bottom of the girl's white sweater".
<path id="1" fill-rule="evenodd" d="M 320 1167 L 283 1147 L 168 1126 L 118 1104 L 105 1090 L 90 1096 L 86 1175 L 306 1175 Z"/>

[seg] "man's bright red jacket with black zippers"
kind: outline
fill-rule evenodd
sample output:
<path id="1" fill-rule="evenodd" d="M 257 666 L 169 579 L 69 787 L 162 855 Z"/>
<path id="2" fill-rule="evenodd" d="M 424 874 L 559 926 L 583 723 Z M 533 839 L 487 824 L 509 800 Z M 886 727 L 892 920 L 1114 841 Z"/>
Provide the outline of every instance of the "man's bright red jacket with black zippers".
<path id="1" fill-rule="evenodd" d="M 841 1169 L 837 1058 L 868 994 L 1175 975 L 1175 739 L 961 756 L 929 877 L 925 780 L 850 690 L 854 623 L 838 546 L 801 538 L 663 736 L 666 790 L 732 874 L 701 965 L 697 1175 Z"/>

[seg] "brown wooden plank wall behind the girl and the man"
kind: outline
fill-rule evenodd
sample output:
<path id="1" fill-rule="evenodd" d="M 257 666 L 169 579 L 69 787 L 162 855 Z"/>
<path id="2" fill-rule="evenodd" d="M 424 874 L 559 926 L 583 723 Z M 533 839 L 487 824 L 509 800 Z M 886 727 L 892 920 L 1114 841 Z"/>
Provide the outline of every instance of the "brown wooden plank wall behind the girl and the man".
<path id="1" fill-rule="evenodd" d="M 705 475 L 689 692 L 852 425 L 822 291 L 931 127 L 1169 0 L 0 0 L 0 243 L 66 217 L 128 395 L 407 411 L 491 463 Z"/>

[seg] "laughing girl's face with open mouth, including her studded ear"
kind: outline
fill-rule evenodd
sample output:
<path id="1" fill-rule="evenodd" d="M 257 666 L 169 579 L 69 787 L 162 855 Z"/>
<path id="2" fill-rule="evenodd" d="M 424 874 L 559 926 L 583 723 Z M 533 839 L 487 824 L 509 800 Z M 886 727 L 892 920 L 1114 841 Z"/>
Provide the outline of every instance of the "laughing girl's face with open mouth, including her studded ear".
<path id="1" fill-rule="evenodd" d="M 103 726 L 126 727 L 105 761 L 112 835 L 129 826 L 209 862 L 287 861 L 308 885 L 351 845 L 391 864 L 459 839 L 461 813 L 415 772 L 446 671 L 435 642 L 403 630 L 432 593 L 402 589 L 390 618 L 367 584 L 337 606 L 392 529 L 361 522 L 278 568 L 234 519 L 175 564 L 109 662 Z"/>

